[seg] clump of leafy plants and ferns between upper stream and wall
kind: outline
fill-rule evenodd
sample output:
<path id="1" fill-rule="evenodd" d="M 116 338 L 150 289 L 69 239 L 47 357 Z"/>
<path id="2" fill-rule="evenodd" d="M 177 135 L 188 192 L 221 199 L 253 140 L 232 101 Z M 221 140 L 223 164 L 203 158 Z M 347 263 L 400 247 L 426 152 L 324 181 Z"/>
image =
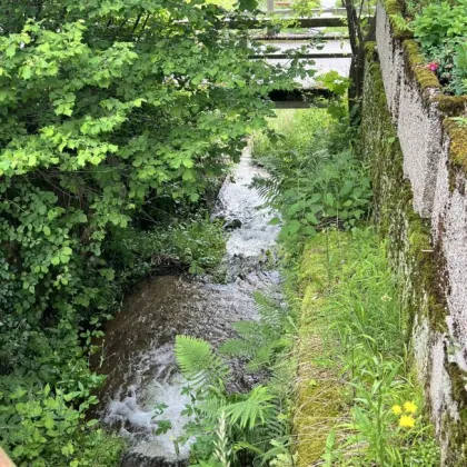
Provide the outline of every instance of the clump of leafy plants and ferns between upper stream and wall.
<path id="1" fill-rule="evenodd" d="M 307 237 L 329 225 L 352 228 L 368 215 L 371 200 L 364 165 L 346 143 L 326 136 L 330 120 L 320 120 L 322 112 L 306 112 L 315 120 L 298 117 L 294 130 L 285 128 L 279 145 L 265 145 L 261 136 L 258 147 L 257 136 L 254 139 L 255 157 L 270 173 L 255 180 L 255 186 L 267 203 L 280 211 L 286 226 L 281 238 L 291 245 L 304 245 Z M 319 129 L 319 123 L 325 128 Z M 307 135 L 307 145 L 296 145 L 296 133 Z"/>

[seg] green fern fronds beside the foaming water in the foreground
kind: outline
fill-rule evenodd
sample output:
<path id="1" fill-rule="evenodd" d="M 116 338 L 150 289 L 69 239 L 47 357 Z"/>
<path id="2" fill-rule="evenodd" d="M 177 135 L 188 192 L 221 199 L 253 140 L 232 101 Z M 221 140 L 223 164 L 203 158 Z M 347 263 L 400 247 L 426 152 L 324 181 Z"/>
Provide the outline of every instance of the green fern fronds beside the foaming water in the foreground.
<path id="1" fill-rule="evenodd" d="M 289 456 L 289 428 L 284 413 L 288 397 L 285 388 L 289 379 L 276 375 L 276 368 L 281 370 L 278 360 L 286 355 L 284 344 L 277 346 L 279 328 L 287 332 L 284 319 L 278 320 L 278 317 L 287 314 L 277 302 L 274 306 L 271 298 L 257 295 L 256 300 L 261 310 L 260 321 L 238 322 L 236 328 L 241 337 L 228 340 L 220 354 L 241 355 L 247 360 L 255 360 L 261 349 L 270 350 L 267 364 L 271 378 L 249 393 L 227 390 L 231 378 L 229 367 L 208 342 L 186 336 L 177 337 L 176 357 L 188 380 L 186 393 L 191 395 L 192 401 L 185 410 L 192 419 L 186 426 L 186 435 L 177 443 L 196 438 L 191 445 L 191 456 L 197 466 L 260 466 L 268 465 L 279 455 L 284 458 Z M 258 349 L 251 345 L 254 334 L 260 341 Z M 290 345 L 288 341 L 288 348 Z"/>

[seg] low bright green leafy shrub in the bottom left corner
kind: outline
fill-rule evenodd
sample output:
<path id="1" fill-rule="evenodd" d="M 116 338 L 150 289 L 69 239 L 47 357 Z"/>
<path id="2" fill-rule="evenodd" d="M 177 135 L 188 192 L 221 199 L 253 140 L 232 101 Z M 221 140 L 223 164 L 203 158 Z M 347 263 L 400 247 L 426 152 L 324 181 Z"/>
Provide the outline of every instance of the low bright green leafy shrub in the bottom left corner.
<path id="1" fill-rule="evenodd" d="M 86 421 L 86 411 L 97 404 L 90 393 L 101 378 L 89 370 L 87 378 L 78 372 L 70 377 L 53 386 L 24 377 L 2 378 L 2 445 L 18 466 L 118 465 L 123 441 L 97 429 L 98 420 Z"/>

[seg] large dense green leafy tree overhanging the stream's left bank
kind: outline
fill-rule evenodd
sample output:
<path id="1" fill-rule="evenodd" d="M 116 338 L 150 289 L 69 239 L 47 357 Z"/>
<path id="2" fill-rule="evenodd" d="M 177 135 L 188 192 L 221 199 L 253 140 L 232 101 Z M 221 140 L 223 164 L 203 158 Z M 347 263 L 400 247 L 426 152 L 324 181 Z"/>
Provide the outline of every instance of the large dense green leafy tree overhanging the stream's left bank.
<path id="1" fill-rule="evenodd" d="M 291 78 L 305 73 L 298 60 L 287 71 L 250 60 L 256 46 L 242 17 L 230 13 L 239 30 L 229 30 L 225 14 L 201 0 L 2 8 L 1 405 L 17 394 L 17 377 L 28 376 L 33 389 L 20 404 L 69 391 L 64 403 L 81 417 L 76 407 L 86 397 L 78 385 L 86 391 L 96 381 L 85 370 L 72 378 L 63 372 L 82 362 L 87 368 L 92 348 L 86 342 L 118 306 L 122 265 L 110 259 L 108 245 L 138 227 L 146 209 L 202 199 L 239 158 L 245 135 L 271 113 L 269 91 L 290 88 Z M 50 393 L 38 396 L 48 382 Z M 12 427 L 6 447 L 24 446 L 18 463 L 50 464 L 59 444 L 49 443 L 41 416 L 31 421 L 41 447 L 29 449 L 29 438 L 14 431 L 24 414 L 3 414 L 2 425 Z M 66 433 L 74 439 L 73 429 Z M 74 459 L 70 449 L 60 455 Z"/>

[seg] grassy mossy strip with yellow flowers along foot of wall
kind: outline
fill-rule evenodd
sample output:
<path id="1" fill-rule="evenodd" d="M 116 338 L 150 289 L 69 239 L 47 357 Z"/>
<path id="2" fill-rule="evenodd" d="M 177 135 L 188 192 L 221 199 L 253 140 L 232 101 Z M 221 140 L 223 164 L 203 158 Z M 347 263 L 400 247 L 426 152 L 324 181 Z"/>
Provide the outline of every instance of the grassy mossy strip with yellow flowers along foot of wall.
<path id="1" fill-rule="evenodd" d="M 321 341 L 321 354 L 308 358 L 340 375 L 336 397 L 345 407 L 328 427 L 327 441 L 321 440 L 321 461 L 328 466 L 439 465 L 434 428 L 424 415 L 421 389 L 411 370 L 407 317 L 385 245 L 372 228 L 361 227 L 350 234 L 321 232 L 307 251 L 301 276 L 319 306 L 305 304 L 304 314 L 311 314 L 310 332 Z M 325 382 L 318 378 L 316 385 Z M 306 456 L 306 446 L 300 453 Z"/>

